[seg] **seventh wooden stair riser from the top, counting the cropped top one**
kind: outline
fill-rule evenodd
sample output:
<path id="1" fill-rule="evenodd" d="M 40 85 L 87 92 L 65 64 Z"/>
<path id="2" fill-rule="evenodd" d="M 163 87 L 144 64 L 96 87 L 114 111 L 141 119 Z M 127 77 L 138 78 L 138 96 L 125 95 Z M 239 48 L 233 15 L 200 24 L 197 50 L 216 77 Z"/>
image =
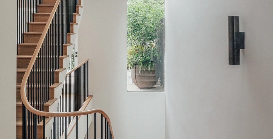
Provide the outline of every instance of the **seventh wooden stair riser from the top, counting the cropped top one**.
<path id="1" fill-rule="evenodd" d="M 17 68 L 27 68 L 29 63 L 30 63 L 30 58 L 17 58 Z M 51 61 L 48 62 L 47 59 L 45 59 L 45 63 L 44 65 L 50 65 L 51 64 Z M 36 66 L 34 65 L 34 68 Z M 63 67 L 63 59 L 59 59 L 59 68 L 64 68 Z"/>

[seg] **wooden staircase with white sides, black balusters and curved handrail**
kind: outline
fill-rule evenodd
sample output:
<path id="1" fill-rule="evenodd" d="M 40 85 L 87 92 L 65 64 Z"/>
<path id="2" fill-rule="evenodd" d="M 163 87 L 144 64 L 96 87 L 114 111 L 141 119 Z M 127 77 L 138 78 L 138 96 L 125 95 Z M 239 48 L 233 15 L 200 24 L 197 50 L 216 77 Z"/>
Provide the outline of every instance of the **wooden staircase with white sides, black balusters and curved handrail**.
<path id="1" fill-rule="evenodd" d="M 82 0 L 17 0 L 17 139 L 88 137 L 96 113 L 114 138 L 108 115 L 90 110 L 88 60 L 67 73 L 82 13 Z"/>

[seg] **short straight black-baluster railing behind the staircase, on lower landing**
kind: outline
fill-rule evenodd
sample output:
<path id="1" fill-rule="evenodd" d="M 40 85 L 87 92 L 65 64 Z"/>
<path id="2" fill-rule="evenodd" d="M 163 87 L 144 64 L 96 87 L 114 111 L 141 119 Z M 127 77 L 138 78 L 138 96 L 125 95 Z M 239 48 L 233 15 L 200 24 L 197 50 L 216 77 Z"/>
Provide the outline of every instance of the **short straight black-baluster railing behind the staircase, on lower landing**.
<path id="1" fill-rule="evenodd" d="M 88 60 L 66 74 L 57 112 L 84 110 L 84 103 L 87 99 Z M 54 117 L 54 126 L 50 133 L 50 139 L 66 138 L 67 130 L 71 130 L 71 125 L 76 121 L 78 121 L 78 116 Z"/>

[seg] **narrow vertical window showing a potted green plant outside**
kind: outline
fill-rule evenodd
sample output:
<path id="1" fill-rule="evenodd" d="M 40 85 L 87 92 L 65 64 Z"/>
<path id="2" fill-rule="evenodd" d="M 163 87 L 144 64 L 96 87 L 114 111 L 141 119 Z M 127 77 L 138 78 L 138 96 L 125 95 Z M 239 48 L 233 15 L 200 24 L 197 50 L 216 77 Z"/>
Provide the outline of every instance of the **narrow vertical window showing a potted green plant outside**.
<path id="1" fill-rule="evenodd" d="M 127 91 L 164 91 L 164 0 L 127 1 Z"/>

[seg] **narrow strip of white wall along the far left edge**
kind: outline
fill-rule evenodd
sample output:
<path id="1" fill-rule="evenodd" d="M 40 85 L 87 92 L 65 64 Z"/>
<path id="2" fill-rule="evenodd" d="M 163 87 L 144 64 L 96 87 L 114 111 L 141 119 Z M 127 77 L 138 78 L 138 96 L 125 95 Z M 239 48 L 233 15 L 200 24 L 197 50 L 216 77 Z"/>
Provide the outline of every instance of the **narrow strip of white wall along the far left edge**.
<path id="1" fill-rule="evenodd" d="M 1 1 L 0 137 L 16 138 L 16 5 Z"/>

